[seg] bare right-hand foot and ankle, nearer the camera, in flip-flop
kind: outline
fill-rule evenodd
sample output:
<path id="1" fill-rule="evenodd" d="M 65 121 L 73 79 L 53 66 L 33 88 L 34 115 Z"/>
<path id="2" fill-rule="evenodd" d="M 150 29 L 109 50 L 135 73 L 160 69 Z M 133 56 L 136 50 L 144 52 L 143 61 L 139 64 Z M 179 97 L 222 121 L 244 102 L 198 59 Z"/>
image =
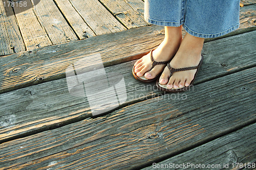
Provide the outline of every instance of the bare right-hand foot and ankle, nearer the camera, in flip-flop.
<path id="1" fill-rule="evenodd" d="M 170 66 L 172 68 L 184 68 L 197 66 L 201 60 L 201 51 L 203 48 L 204 38 L 198 38 L 186 34 L 180 48 L 172 61 L 170 61 Z M 190 85 L 191 81 L 194 79 L 197 69 L 191 69 L 186 71 L 174 72 L 171 77 L 170 71 L 167 66 L 159 79 L 159 83 L 162 85 L 166 84 L 168 89 L 178 89 L 182 87 L 187 87 Z"/>

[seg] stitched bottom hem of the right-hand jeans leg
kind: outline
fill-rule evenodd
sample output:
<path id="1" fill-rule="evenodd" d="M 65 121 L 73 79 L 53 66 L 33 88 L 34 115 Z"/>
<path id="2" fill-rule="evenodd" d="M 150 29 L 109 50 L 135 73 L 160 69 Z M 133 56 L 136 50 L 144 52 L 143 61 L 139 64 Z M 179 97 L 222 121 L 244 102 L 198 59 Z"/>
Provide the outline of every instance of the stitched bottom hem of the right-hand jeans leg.
<path id="1" fill-rule="evenodd" d="M 223 36 L 225 34 L 228 34 L 234 30 L 237 30 L 239 28 L 239 24 L 234 26 L 234 27 L 231 27 L 223 32 L 220 32 L 220 33 L 215 33 L 215 34 L 201 34 L 201 33 L 197 33 L 193 30 L 190 30 L 185 24 L 183 24 L 183 28 L 184 30 L 190 34 L 190 35 L 193 35 L 195 37 L 200 37 L 200 38 L 216 38 L 216 37 L 220 37 L 220 36 Z"/>

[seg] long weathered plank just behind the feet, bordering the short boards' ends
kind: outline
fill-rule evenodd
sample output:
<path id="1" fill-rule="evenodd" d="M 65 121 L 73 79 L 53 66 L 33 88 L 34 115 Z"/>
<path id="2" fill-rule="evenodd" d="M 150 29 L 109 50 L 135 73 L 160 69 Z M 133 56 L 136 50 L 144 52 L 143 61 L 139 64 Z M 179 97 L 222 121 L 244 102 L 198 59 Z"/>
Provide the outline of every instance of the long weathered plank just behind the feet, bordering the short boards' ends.
<path id="1" fill-rule="evenodd" d="M 255 11 L 255 6 L 246 6 L 241 9 L 251 11 L 251 8 Z M 243 10 L 241 10 L 242 13 L 245 12 Z M 256 29 L 255 25 L 243 21 L 252 16 L 242 16 L 243 14 L 241 14 L 241 27 L 226 36 Z M 0 59 L 0 93 L 39 84 L 42 82 L 39 80 L 40 77 L 44 81 L 65 78 L 65 70 L 70 64 L 99 52 L 104 65 L 138 59 L 160 44 L 163 38 L 163 27 L 148 26 L 2 57 Z M 213 39 L 205 41 L 210 40 Z"/>

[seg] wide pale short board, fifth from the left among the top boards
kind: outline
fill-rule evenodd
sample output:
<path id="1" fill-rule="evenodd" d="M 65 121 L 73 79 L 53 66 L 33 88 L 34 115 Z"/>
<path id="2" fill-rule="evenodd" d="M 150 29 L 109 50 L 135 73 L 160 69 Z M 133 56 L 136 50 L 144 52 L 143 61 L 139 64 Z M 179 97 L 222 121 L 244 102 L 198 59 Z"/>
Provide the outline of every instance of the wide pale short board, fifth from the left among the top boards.
<path id="1" fill-rule="evenodd" d="M 126 30 L 97 0 L 71 0 L 70 2 L 96 35 Z"/>

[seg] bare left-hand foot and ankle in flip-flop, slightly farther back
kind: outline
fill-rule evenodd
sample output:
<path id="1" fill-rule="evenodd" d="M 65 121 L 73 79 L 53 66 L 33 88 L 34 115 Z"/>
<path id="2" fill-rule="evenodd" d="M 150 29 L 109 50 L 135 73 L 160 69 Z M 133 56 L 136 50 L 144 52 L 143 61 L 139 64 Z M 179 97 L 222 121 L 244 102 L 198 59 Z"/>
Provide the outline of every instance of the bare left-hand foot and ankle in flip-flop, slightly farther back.
<path id="1" fill-rule="evenodd" d="M 182 41 L 181 27 L 165 27 L 163 42 L 153 51 L 155 61 L 169 61 L 179 49 Z M 165 65 L 156 65 L 152 68 L 150 54 L 143 56 L 134 64 L 135 73 L 138 77 L 154 79 L 164 69 Z"/>

